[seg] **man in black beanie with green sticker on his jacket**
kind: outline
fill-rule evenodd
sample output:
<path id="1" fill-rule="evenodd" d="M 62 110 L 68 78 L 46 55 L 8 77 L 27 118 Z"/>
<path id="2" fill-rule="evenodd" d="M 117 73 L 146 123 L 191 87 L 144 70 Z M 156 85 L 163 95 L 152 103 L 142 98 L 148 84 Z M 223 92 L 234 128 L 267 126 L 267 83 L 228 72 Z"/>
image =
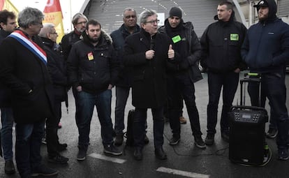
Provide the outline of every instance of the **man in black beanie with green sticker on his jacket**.
<path id="1" fill-rule="evenodd" d="M 172 128 L 170 145 L 179 143 L 181 126 L 179 123 L 179 106 L 186 103 L 188 118 L 195 138 L 196 147 L 204 149 L 200 131 L 200 119 L 195 105 L 194 82 L 201 80 L 202 75 L 198 68 L 201 46 L 198 36 L 193 30 L 193 24 L 181 19 L 181 9 L 170 9 L 170 17 L 165 20 L 165 25 L 159 31 L 170 36 L 172 49 L 175 50 L 175 63 L 168 65 L 168 118 Z"/>

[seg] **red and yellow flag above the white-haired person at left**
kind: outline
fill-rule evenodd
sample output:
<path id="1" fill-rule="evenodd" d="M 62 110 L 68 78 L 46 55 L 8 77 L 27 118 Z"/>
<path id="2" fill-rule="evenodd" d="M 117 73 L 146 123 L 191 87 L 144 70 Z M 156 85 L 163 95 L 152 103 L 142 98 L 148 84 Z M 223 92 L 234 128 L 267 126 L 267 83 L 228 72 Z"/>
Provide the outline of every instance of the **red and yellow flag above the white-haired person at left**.
<path id="1" fill-rule="evenodd" d="M 52 23 L 55 25 L 55 29 L 59 35 L 57 43 L 59 43 L 64 36 L 63 15 L 59 0 L 48 0 L 43 13 L 45 14 L 43 23 Z"/>

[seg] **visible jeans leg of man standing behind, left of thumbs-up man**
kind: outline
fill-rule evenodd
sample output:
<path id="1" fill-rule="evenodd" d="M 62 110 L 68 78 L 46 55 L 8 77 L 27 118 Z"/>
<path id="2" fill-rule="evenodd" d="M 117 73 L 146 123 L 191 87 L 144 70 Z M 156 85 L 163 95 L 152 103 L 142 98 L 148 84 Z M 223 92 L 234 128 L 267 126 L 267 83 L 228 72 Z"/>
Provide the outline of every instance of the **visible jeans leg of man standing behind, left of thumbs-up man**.
<path id="1" fill-rule="evenodd" d="M 115 94 L 117 101 L 115 103 L 115 124 L 114 131 L 117 134 L 124 133 L 124 110 L 128 101 L 130 87 L 116 87 Z"/>

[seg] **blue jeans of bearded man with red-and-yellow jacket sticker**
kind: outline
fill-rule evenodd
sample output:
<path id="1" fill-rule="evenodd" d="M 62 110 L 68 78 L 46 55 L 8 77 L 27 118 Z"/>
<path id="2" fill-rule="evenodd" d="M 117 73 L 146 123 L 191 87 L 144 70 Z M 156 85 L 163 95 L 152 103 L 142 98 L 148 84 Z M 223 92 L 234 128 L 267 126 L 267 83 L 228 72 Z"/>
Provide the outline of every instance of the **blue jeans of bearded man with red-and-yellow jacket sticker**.
<path id="1" fill-rule="evenodd" d="M 91 117 L 94 113 L 94 106 L 98 113 L 98 119 L 101 123 L 101 138 L 103 144 L 112 144 L 112 119 L 111 103 L 112 91 L 107 89 L 100 94 L 89 94 L 85 91 L 77 93 L 77 128 L 78 128 L 78 145 L 87 148 L 89 145 L 89 132 Z"/>

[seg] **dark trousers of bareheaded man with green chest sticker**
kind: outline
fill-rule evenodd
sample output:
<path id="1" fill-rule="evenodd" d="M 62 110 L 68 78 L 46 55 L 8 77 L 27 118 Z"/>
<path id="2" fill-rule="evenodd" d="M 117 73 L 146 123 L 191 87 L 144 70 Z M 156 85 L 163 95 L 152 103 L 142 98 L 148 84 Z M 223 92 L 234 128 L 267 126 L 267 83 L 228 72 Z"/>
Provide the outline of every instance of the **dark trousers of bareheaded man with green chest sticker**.
<path id="1" fill-rule="evenodd" d="M 232 106 L 239 84 L 239 73 L 213 73 L 208 71 L 209 104 L 207 105 L 207 133 L 216 133 L 218 121 L 218 101 L 223 87 L 223 108 L 221 113 L 221 132 L 229 131 L 228 112 Z"/>

